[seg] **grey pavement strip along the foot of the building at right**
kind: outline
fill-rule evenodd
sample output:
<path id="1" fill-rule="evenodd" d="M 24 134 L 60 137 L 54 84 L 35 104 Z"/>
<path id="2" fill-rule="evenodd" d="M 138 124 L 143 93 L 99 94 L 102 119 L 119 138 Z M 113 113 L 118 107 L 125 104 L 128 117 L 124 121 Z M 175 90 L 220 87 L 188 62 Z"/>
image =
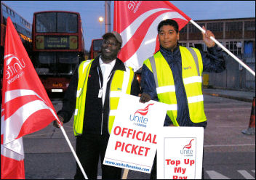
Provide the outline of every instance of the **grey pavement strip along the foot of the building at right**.
<path id="1" fill-rule="evenodd" d="M 215 97 L 225 97 L 228 99 L 236 99 L 244 102 L 252 102 L 255 97 L 254 91 L 239 91 L 239 90 L 227 90 L 227 89 L 209 89 L 204 88 L 203 94 L 211 95 Z"/>

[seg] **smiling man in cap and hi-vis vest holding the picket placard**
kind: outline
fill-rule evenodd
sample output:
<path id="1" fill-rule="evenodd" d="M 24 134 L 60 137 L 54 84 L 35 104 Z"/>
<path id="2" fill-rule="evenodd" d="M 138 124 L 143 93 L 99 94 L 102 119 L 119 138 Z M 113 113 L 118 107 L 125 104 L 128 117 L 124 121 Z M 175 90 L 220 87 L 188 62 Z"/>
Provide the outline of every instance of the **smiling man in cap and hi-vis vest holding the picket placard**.
<path id="1" fill-rule="evenodd" d="M 121 168 L 103 165 L 105 150 L 121 94 L 141 93 L 132 68 L 117 58 L 121 44 L 119 33 L 103 35 L 102 54 L 81 62 L 65 93 L 63 108 L 57 113 L 67 123 L 74 112 L 76 154 L 89 179 L 97 179 L 99 158 L 103 179 L 121 179 Z M 140 102 L 149 100 L 141 95 Z M 56 122 L 54 126 L 58 127 Z M 74 179 L 84 179 L 78 165 Z"/>

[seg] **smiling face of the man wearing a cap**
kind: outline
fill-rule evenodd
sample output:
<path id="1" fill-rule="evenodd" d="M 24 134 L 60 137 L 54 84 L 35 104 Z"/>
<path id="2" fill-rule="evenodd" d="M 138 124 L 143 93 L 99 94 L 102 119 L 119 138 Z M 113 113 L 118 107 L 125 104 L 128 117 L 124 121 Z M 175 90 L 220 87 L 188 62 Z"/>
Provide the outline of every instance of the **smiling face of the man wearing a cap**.
<path id="1" fill-rule="evenodd" d="M 110 36 L 103 39 L 103 45 L 101 46 L 103 60 L 115 60 L 119 50 L 120 44 L 116 41 L 116 38 Z"/>

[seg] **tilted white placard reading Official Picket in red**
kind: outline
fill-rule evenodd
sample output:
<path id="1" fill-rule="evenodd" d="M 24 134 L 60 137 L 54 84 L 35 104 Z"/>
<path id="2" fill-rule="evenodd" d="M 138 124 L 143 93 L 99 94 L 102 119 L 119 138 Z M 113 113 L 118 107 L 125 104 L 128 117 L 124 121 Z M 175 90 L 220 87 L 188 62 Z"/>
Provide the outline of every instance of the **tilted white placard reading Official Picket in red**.
<path id="1" fill-rule="evenodd" d="M 167 105 L 139 99 L 121 96 L 103 164 L 151 173 Z"/>

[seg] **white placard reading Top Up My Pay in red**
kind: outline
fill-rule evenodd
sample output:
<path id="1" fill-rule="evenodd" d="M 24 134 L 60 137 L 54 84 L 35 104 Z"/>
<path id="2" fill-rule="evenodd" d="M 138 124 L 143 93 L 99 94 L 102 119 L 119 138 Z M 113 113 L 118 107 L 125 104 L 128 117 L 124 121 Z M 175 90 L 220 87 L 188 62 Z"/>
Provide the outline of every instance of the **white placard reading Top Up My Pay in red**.
<path id="1" fill-rule="evenodd" d="M 157 179 L 201 179 L 204 128 L 163 127 L 157 149 Z"/>

